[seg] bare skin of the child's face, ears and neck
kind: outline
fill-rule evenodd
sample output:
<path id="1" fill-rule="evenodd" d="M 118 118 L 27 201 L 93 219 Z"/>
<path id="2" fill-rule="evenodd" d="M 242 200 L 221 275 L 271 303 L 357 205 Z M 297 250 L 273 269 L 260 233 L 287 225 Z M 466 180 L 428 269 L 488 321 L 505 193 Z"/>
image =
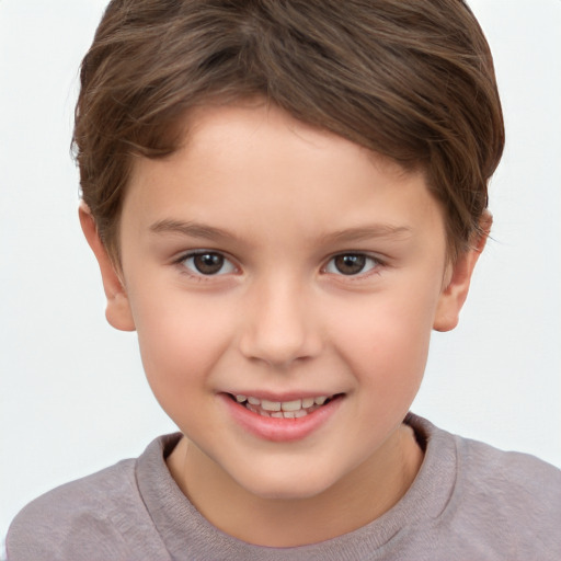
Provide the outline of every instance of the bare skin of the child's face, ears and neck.
<path id="1" fill-rule="evenodd" d="M 185 435 L 170 472 L 210 523 L 252 543 L 351 531 L 419 471 L 402 421 L 484 240 L 450 263 L 421 172 L 277 107 L 201 107 L 185 126 L 178 152 L 135 164 L 119 266 L 80 209 L 107 319 L 138 332 L 148 381 Z M 222 268 L 201 274 L 196 250 Z M 343 274 L 341 254 L 364 268 Z M 341 397 L 310 434 L 276 442 L 241 426 L 226 393 Z"/>

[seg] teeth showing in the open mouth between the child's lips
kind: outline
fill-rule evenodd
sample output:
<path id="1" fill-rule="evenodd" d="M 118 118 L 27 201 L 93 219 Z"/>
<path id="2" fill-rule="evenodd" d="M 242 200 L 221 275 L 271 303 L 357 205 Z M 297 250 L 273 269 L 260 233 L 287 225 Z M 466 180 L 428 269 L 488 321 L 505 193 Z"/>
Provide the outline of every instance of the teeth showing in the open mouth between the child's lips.
<path id="1" fill-rule="evenodd" d="M 252 413 L 272 419 L 301 419 L 327 405 L 334 399 L 341 398 L 342 393 L 333 396 L 317 396 L 314 398 L 301 398 L 290 401 L 270 401 L 253 396 L 231 394 L 231 400 L 245 408 Z"/>

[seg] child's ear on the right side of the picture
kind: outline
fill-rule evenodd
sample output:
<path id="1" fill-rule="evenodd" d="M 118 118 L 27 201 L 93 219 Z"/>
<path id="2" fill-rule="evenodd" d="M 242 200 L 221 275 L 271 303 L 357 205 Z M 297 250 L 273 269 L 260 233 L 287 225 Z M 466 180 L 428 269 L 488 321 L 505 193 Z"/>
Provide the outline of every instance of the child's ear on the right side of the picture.
<path id="1" fill-rule="evenodd" d="M 490 213 L 481 219 L 481 233 L 474 240 L 474 244 L 460 255 L 455 263 L 450 263 L 446 274 L 446 280 L 436 308 L 433 328 L 436 331 L 450 331 L 459 321 L 460 311 L 468 297 L 471 276 L 476 268 L 479 255 L 485 248 L 493 217 Z"/>

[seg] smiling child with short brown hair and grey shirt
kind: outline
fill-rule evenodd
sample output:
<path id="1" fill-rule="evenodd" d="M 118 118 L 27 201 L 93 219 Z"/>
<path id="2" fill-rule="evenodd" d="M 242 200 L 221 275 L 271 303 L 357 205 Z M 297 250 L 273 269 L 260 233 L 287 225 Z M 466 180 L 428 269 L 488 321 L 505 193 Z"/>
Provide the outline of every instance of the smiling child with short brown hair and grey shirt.
<path id="1" fill-rule="evenodd" d="M 459 0 L 110 3 L 80 219 L 181 433 L 38 499 L 21 559 L 558 559 L 561 474 L 409 413 L 504 135 Z"/>

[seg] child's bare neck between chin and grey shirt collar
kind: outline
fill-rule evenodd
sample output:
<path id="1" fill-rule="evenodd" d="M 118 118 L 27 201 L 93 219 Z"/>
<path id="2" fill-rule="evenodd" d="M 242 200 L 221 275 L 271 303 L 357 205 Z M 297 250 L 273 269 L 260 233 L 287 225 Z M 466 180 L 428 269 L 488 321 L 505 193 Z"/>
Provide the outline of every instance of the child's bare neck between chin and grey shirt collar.
<path id="1" fill-rule="evenodd" d="M 185 438 L 168 467 L 198 512 L 224 533 L 260 546 L 296 547 L 347 534 L 381 516 L 405 494 L 422 460 L 413 431 L 402 425 L 344 479 L 297 500 L 249 493 Z"/>

